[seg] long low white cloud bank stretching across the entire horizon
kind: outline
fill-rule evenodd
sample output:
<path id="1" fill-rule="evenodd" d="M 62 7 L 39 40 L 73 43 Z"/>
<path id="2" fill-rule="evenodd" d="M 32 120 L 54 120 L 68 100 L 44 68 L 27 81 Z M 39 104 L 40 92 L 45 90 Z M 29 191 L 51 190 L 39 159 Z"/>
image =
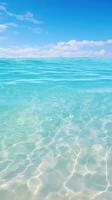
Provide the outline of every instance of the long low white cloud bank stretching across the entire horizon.
<path id="1" fill-rule="evenodd" d="M 70 40 L 43 47 L 0 48 L 0 57 L 107 57 L 112 56 L 112 40 Z"/>

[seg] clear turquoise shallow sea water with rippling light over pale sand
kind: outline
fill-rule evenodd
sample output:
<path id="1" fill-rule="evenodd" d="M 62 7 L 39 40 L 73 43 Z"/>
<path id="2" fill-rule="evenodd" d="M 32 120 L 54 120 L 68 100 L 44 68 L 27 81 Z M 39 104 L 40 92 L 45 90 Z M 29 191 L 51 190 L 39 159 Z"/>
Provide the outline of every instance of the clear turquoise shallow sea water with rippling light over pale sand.
<path id="1" fill-rule="evenodd" d="M 0 60 L 0 199 L 112 199 L 112 59 Z"/>

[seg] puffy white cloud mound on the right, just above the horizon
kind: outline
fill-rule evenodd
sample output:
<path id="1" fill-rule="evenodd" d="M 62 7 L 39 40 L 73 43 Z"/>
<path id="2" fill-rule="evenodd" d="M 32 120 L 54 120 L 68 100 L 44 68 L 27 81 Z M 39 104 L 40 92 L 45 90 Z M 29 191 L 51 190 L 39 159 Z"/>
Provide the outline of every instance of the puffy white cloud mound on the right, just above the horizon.
<path id="1" fill-rule="evenodd" d="M 110 45 L 112 46 L 112 40 L 70 40 L 53 45 L 47 50 L 47 55 L 62 57 L 110 56 L 111 52 L 107 50 Z"/>

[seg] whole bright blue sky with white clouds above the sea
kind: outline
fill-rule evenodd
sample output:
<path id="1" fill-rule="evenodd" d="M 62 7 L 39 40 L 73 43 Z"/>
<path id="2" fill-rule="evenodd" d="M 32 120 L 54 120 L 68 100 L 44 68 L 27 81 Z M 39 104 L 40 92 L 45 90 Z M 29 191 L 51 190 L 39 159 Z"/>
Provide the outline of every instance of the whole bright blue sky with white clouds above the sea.
<path id="1" fill-rule="evenodd" d="M 0 57 L 112 56 L 112 0 L 0 0 Z"/>

